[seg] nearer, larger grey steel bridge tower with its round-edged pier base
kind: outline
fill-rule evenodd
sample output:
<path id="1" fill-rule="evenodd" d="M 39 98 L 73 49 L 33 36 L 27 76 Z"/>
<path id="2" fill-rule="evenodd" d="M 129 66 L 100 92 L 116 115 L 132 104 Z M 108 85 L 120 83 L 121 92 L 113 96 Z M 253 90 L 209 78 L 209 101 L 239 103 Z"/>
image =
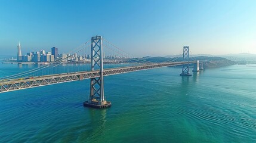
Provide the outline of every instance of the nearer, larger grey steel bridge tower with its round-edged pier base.
<path id="1" fill-rule="evenodd" d="M 102 36 L 91 38 L 91 71 L 95 70 L 98 70 L 98 77 L 91 79 L 90 96 L 88 101 L 84 102 L 84 106 L 95 108 L 110 107 L 111 102 L 106 101 L 104 97 Z"/>

